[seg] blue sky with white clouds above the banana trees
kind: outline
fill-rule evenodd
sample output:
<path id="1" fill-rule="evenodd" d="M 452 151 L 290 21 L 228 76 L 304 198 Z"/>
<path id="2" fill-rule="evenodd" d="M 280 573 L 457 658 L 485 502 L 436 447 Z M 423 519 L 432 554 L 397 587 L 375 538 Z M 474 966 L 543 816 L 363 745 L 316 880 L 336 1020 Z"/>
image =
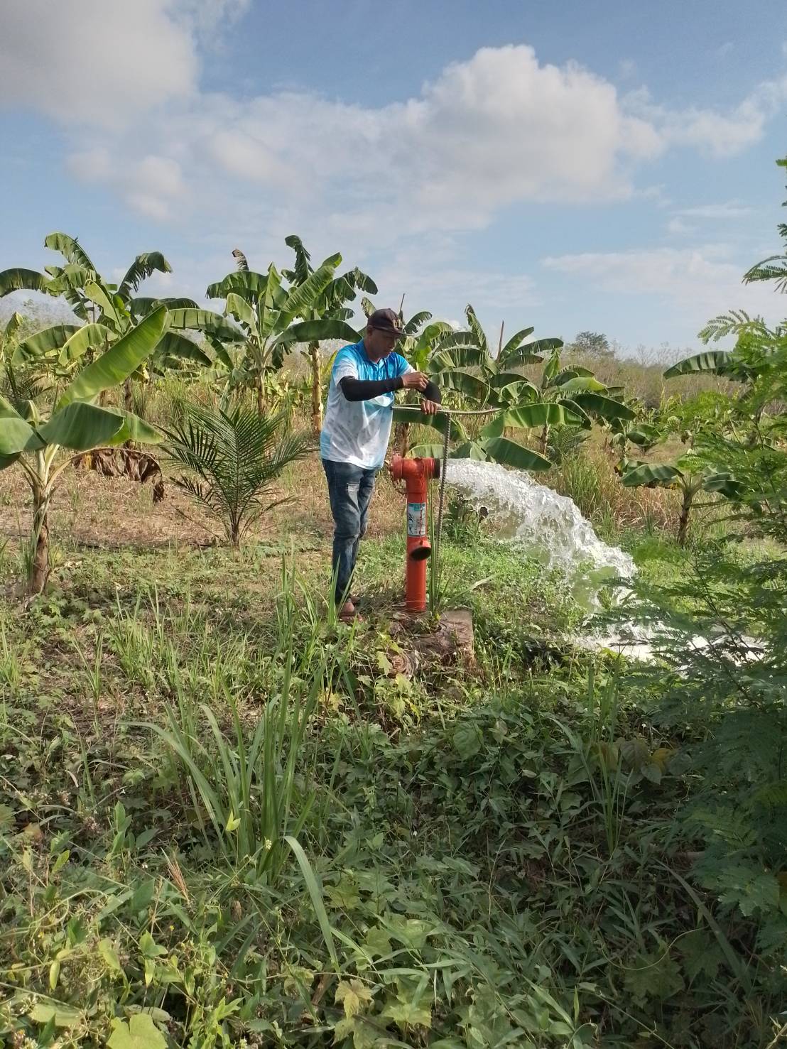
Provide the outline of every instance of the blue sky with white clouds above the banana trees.
<path id="1" fill-rule="evenodd" d="M 297 232 L 379 304 L 696 344 L 779 247 L 787 4 L 118 0 L 0 8 L 0 269 L 79 236 L 201 298 Z"/>

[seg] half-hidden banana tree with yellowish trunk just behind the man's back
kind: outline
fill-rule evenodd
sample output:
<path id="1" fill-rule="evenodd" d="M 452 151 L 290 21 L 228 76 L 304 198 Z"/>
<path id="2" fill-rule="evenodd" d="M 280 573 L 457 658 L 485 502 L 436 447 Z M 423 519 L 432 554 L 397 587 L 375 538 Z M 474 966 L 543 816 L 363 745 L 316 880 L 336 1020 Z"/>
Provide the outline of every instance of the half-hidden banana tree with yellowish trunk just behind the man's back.
<path id="1" fill-rule="evenodd" d="M 284 243 L 295 252 L 295 266 L 292 270 L 282 270 L 282 276 L 289 281 L 291 286 L 297 287 L 305 284 L 314 273 L 311 263 L 312 256 L 303 247 L 300 237 L 294 234 L 284 237 Z M 240 254 L 240 253 L 238 253 Z M 246 257 L 242 256 L 243 261 Z M 358 292 L 368 292 L 370 295 L 377 294 L 377 284 L 365 273 L 356 266 L 345 274 L 335 277 L 328 282 L 324 291 L 320 294 L 313 306 L 306 309 L 301 316 L 305 321 L 337 320 L 348 321 L 353 317 L 353 311 L 346 305 L 352 302 Z M 329 336 L 326 338 L 352 339 L 356 341 L 349 333 L 340 336 Z M 357 338 L 357 337 L 356 337 Z M 309 349 L 304 352 L 309 358 L 312 373 L 312 429 L 319 433 L 322 429 L 322 377 L 323 367 L 320 361 L 320 341 L 313 339 L 309 344 Z"/>

